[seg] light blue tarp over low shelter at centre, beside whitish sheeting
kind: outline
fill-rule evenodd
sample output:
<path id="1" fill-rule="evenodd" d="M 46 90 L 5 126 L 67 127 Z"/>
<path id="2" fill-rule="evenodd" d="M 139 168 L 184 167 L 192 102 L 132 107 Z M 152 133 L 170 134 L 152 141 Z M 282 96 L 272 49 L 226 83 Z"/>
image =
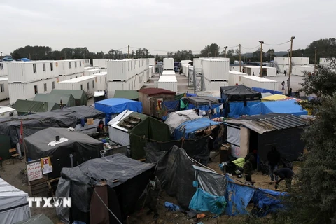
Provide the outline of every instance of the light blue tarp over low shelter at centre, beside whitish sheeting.
<path id="1" fill-rule="evenodd" d="M 198 130 L 206 129 L 212 125 L 221 125 L 220 122 L 215 122 L 209 118 L 198 118 L 196 120 L 188 120 L 174 130 L 174 139 L 178 140 L 181 138 L 194 139 L 195 132 Z M 186 132 L 185 134 L 183 134 Z"/>

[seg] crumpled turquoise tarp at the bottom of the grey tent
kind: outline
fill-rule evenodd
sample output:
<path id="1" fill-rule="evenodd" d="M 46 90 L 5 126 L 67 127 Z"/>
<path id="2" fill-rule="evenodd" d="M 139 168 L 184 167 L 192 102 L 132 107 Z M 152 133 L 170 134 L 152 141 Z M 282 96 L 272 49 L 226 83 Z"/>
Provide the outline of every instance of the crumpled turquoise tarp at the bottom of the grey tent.
<path id="1" fill-rule="evenodd" d="M 211 211 L 213 214 L 223 214 L 225 211 L 225 197 L 207 193 L 198 188 L 189 204 L 189 209 L 195 211 Z"/>

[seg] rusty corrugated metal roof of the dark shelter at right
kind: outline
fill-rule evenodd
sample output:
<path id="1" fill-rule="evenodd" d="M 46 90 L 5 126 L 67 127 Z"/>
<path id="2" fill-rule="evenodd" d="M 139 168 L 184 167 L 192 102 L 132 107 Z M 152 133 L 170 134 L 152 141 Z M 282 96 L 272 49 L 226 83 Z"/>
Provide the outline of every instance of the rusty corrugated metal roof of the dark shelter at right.
<path id="1" fill-rule="evenodd" d="M 269 113 L 262 116 L 227 120 L 229 124 L 242 125 L 258 134 L 309 125 L 307 120 L 290 114 Z"/>

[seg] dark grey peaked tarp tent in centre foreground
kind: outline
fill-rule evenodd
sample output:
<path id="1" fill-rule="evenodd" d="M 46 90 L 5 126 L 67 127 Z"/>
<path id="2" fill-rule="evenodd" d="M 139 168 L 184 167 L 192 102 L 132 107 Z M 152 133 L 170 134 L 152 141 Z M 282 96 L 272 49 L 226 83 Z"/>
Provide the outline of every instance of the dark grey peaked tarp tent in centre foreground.
<path id="1" fill-rule="evenodd" d="M 195 174 L 193 162 L 188 158 L 186 151 L 173 146 L 158 161 L 156 174 L 167 194 L 175 196 L 179 205 L 183 209 L 188 209 L 196 188 L 193 187 Z"/>

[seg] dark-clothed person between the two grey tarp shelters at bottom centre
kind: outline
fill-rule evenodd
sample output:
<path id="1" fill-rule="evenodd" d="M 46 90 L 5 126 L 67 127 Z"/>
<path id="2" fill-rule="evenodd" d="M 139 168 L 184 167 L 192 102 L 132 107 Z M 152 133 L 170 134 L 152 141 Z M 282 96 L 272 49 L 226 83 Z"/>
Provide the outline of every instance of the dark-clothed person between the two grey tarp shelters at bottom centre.
<path id="1" fill-rule="evenodd" d="M 154 212 L 153 219 L 156 219 L 159 217 L 158 214 L 158 197 L 161 189 L 161 183 L 158 179 L 158 176 L 155 176 L 155 174 L 151 175 L 150 181 L 149 181 L 149 191 L 148 191 L 148 211 L 147 215 L 150 215 Z"/>

